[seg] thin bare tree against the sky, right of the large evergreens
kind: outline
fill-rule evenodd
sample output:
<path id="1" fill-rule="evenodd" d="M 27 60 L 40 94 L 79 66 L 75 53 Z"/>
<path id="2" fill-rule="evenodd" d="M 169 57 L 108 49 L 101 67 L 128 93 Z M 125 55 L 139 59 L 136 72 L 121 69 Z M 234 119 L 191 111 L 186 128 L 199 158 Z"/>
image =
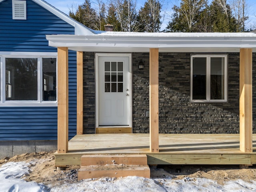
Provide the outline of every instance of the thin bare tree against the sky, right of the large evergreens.
<path id="1" fill-rule="evenodd" d="M 232 0 L 231 9 L 236 18 L 236 31 L 245 31 L 245 22 L 248 20 L 248 6 L 246 0 Z"/>

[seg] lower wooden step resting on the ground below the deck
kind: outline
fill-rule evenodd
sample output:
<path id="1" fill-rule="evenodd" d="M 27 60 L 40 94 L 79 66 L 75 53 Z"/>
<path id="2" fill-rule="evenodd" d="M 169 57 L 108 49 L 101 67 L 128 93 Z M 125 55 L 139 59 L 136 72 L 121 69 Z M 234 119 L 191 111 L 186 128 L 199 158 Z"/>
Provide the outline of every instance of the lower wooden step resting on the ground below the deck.
<path id="1" fill-rule="evenodd" d="M 127 177 L 138 176 L 150 178 L 150 168 L 146 165 L 105 165 L 81 166 L 78 171 L 78 180 L 99 177 Z"/>

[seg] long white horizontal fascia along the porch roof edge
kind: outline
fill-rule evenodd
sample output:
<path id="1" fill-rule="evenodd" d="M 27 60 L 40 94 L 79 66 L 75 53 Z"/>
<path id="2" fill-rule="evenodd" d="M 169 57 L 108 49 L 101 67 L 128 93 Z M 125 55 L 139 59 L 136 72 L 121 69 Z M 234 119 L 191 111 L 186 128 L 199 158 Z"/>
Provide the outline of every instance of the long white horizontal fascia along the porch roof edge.
<path id="1" fill-rule="evenodd" d="M 104 52 L 131 50 L 132 52 L 148 52 L 149 48 L 165 50 L 182 49 L 194 52 L 203 50 L 239 51 L 240 48 L 256 49 L 255 37 L 142 37 L 142 36 L 83 36 L 83 35 L 47 35 L 49 45 L 68 47 L 72 50 L 91 50 Z M 88 48 L 88 49 L 87 49 Z"/>

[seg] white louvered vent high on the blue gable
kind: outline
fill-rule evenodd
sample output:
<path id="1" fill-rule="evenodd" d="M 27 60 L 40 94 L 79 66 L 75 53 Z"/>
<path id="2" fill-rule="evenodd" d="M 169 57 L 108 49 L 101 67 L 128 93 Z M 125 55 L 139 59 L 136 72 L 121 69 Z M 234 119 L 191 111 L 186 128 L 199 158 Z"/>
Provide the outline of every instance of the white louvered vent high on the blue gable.
<path id="1" fill-rule="evenodd" d="M 26 1 L 12 0 L 12 19 L 27 19 Z"/>

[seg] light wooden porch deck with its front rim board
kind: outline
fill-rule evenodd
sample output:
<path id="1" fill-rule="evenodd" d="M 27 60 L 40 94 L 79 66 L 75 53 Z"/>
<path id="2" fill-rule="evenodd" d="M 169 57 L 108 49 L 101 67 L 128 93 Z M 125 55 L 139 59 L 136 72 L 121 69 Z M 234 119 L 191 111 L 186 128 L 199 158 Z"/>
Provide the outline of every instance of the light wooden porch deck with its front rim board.
<path id="1" fill-rule="evenodd" d="M 149 134 L 83 134 L 55 153 L 56 166 L 80 165 L 83 154 L 146 154 L 148 164 L 256 164 L 253 152 L 239 150 L 239 134 L 159 134 L 159 153 L 150 152 Z"/>

